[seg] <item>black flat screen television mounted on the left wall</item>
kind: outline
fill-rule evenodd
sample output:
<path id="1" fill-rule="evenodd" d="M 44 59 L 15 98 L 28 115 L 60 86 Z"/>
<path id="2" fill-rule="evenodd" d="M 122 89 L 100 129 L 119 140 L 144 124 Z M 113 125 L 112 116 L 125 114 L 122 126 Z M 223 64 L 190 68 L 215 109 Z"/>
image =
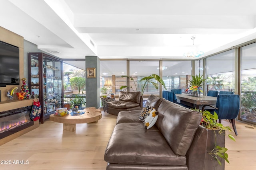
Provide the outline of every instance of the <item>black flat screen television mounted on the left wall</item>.
<path id="1" fill-rule="evenodd" d="M 0 86 L 18 85 L 20 82 L 20 50 L 0 41 Z"/>

